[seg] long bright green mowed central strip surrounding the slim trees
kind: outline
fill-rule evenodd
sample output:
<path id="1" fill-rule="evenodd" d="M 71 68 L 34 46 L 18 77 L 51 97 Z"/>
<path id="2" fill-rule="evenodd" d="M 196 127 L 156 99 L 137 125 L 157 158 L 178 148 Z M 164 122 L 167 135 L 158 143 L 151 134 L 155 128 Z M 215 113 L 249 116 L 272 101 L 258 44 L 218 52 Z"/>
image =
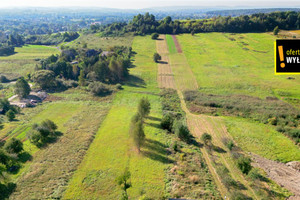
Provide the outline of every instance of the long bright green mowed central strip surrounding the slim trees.
<path id="1" fill-rule="evenodd" d="M 149 36 L 135 37 L 133 42 L 135 68 L 130 81 L 116 94 L 113 106 L 101 125 L 87 155 L 75 172 L 63 199 L 119 199 L 121 188 L 115 179 L 126 168 L 131 172 L 131 199 L 141 194 L 153 199 L 164 196 L 165 168 L 169 159 L 164 134 L 159 128 L 161 109 L 152 61 L 155 41 Z M 129 136 L 131 117 L 142 97 L 151 103 L 150 117 L 145 122 L 146 143 L 138 154 Z"/>

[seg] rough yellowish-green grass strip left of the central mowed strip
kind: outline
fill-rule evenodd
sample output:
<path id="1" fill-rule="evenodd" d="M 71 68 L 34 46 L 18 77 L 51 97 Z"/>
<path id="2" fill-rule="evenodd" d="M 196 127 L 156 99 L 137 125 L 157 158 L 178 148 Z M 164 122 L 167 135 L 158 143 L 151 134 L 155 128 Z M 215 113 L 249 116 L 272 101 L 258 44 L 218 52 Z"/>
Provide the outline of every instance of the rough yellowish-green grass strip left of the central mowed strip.
<path id="1" fill-rule="evenodd" d="M 10 198 L 61 198 L 67 181 L 85 155 L 110 105 L 110 98 L 98 98 L 98 101 L 60 100 L 48 103 L 46 108 L 35 113 L 29 123 L 53 120 L 62 135 L 58 141 L 42 149 L 25 141 L 25 150 L 32 154 L 33 159 L 12 177 L 16 179 L 17 188 Z"/>

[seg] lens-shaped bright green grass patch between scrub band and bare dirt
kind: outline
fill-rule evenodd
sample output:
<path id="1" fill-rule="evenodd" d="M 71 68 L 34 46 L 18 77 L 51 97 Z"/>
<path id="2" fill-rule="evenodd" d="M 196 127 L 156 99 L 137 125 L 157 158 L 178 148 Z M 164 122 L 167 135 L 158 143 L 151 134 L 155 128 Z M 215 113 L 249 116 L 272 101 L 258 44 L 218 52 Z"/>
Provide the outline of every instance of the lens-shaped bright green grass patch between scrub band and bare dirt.
<path id="1" fill-rule="evenodd" d="M 230 135 L 245 151 L 280 162 L 300 161 L 300 149 L 271 125 L 224 117 Z"/>

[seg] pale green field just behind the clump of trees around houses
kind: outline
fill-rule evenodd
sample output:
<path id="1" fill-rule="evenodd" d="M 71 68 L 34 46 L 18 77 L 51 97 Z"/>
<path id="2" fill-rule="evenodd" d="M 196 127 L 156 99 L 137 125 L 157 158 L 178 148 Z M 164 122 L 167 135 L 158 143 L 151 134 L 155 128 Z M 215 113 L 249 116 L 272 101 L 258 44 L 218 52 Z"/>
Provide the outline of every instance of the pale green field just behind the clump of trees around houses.
<path id="1" fill-rule="evenodd" d="M 133 41 L 133 35 L 126 35 L 124 37 L 100 37 L 97 34 L 80 34 L 80 37 L 72 42 L 66 42 L 62 45 L 74 48 L 82 48 L 83 44 L 90 49 L 107 50 L 113 46 L 127 46 L 130 47 Z"/>

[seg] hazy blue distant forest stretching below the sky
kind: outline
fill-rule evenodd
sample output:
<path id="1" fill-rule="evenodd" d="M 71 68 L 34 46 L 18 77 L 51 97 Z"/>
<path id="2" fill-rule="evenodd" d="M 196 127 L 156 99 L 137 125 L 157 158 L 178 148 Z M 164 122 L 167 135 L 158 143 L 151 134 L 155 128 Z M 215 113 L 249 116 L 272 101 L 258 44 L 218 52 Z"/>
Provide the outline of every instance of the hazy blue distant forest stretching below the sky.
<path id="1" fill-rule="evenodd" d="M 157 20 L 170 16 L 173 20 L 208 19 L 220 16 L 240 16 L 274 11 L 296 11 L 298 8 L 216 10 L 200 7 L 166 7 L 141 10 L 108 8 L 24 8 L 0 9 L 0 32 L 6 35 L 44 35 L 59 32 L 76 32 L 92 24 L 108 25 L 129 23 L 139 13 L 152 13 Z"/>

